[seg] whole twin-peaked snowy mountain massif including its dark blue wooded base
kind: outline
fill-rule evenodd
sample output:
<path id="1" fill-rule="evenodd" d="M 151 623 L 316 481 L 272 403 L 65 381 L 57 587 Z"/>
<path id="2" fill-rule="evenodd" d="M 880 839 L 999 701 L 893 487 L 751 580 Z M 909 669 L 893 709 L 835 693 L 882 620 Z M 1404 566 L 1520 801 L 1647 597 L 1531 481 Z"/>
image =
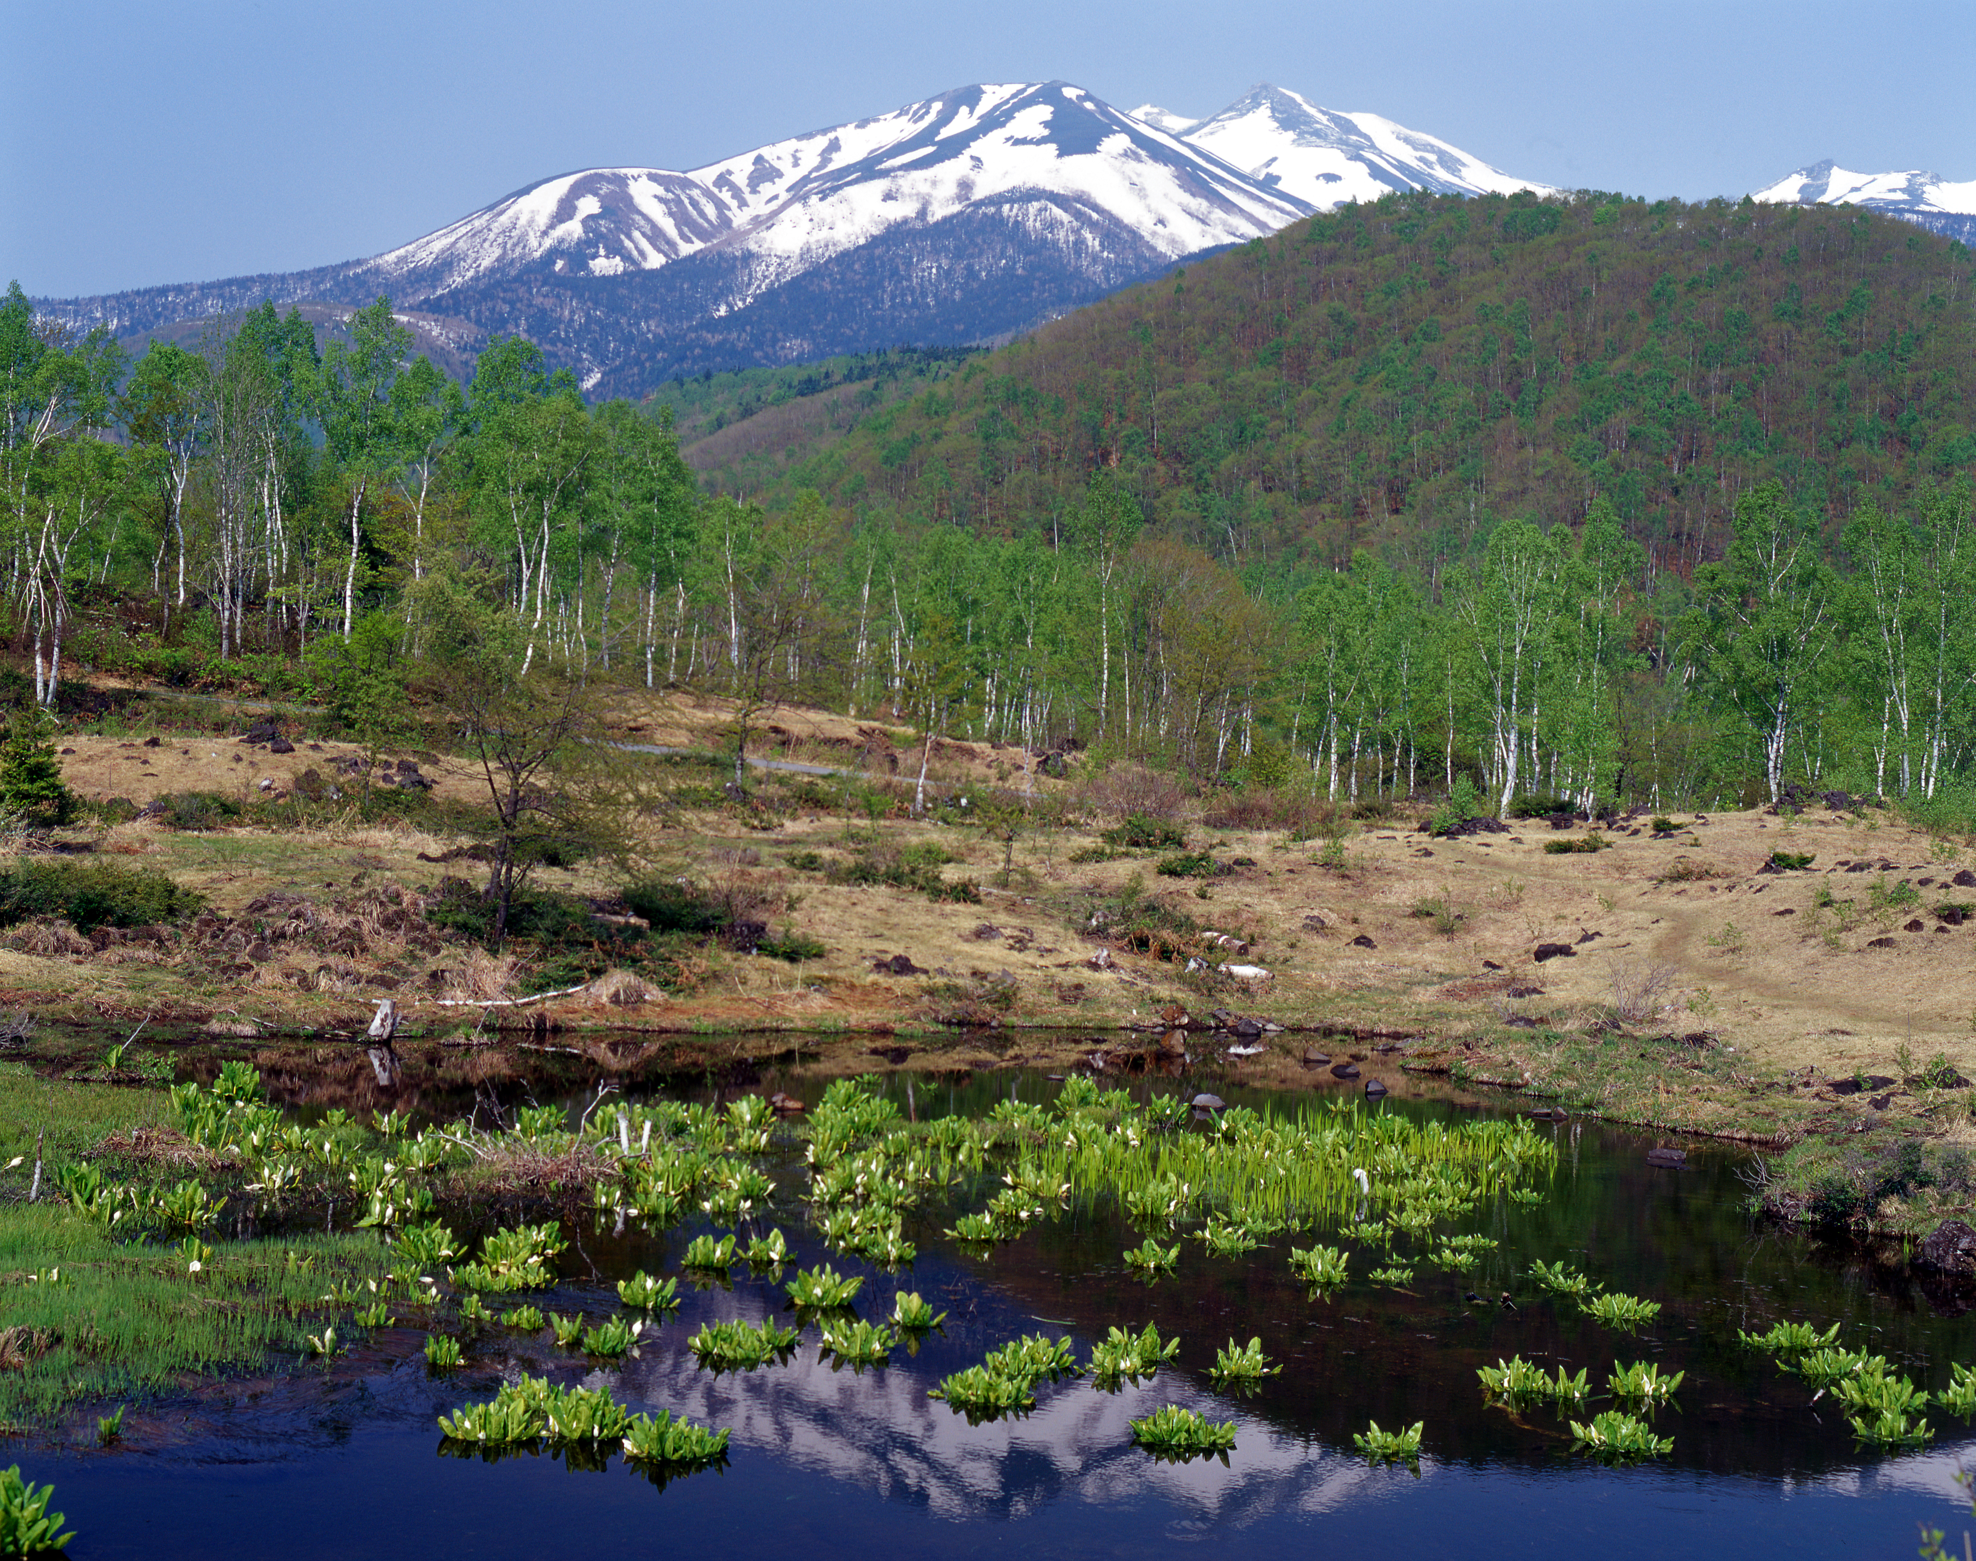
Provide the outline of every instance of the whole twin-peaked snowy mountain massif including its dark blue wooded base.
<path id="1" fill-rule="evenodd" d="M 462 332 L 522 332 L 585 389 L 636 393 L 703 368 L 1006 338 L 1190 255 L 1409 188 L 1525 182 L 1267 85 L 1203 121 L 1128 115 L 1063 81 L 982 85 L 688 172 L 559 174 L 368 261 L 45 308 L 136 340 L 263 298 L 389 294 L 445 322 L 454 348 Z"/>

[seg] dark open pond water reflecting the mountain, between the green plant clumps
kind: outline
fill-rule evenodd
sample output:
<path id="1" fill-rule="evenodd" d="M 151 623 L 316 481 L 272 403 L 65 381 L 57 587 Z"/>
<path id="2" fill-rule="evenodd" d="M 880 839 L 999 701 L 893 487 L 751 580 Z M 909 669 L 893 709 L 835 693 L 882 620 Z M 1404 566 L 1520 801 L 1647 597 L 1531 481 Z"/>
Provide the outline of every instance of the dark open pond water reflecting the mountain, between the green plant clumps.
<path id="1" fill-rule="evenodd" d="M 887 1073 L 899 1112 L 980 1116 L 998 1101 L 1047 1105 L 1063 1087 L 1035 1073 L 956 1081 Z M 1195 1085 L 1140 1079 L 1136 1099 Z M 824 1081 L 800 1067 L 763 1071 L 753 1093 L 816 1101 Z M 1217 1085 L 1229 1107 L 1322 1112 L 1310 1097 Z M 711 1099 L 707 1089 L 672 1091 Z M 721 1099 L 729 1099 L 725 1091 Z M 636 1099 L 636 1095 L 634 1095 Z M 1336 1097 L 1334 1097 L 1336 1099 Z M 585 1095 L 585 1101 L 589 1095 Z M 581 1105 L 571 1101 L 573 1114 Z M 1407 1120 L 1450 1124 L 1476 1112 L 1444 1101 L 1389 1099 Z M 1180 1132 L 1213 1134 L 1213 1120 Z M 107 1452 L 22 1446 L 34 1480 L 53 1480 L 79 1531 L 75 1557 L 350 1557 L 545 1555 L 632 1547 L 743 1553 L 838 1551 L 960 1557 L 1020 1543 L 1045 1555 L 1109 1557 L 1235 1541 L 1245 1555 L 1359 1555 L 1385 1549 L 1464 1557 L 1606 1557 L 1765 1549 L 1794 1555 L 1913 1555 L 1919 1521 L 1960 1531 L 1966 1502 L 1954 1470 L 1976 1460 L 1970 1427 L 1931 1413 L 1936 1440 L 1915 1452 L 1855 1442 L 1830 1393 L 1816 1395 L 1739 1330 L 1778 1320 L 1840 1324 L 1842 1342 L 1885 1356 L 1921 1387 L 1948 1385 L 1976 1363 L 1972 1296 L 1923 1288 L 1852 1247 L 1828 1247 L 1753 1221 L 1747 1150 L 1688 1146 L 1680 1170 L 1648 1166 L 1650 1140 L 1595 1124 L 1541 1124 L 1557 1168 L 1535 1180 L 1541 1201 L 1482 1201 L 1444 1227 L 1494 1241 L 1474 1267 L 1421 1263 L 1403 1286 L 1373 1284 L 1381 1247 L 1342 1243 L 1350 1278 L 1312 1292 L 1276 1233 L 1245 1255 L 1215 1257 L 1192 1233 L 1174 1273 L 1146 1282 L 1122 1261 L 1144 1225 L 1111 1201 L 1077 1199 L 992 1247 L 943 1235 L 1000 1188 L 1000 1166 L 927 1197 L 907 1215 L 917 1247 L 897 1273 L 826 1247 L 796 1190 L 794 1144 L 759 1164 L 779 1184 L 773 1221 L 790 1245 L 782 1273 L 735 1265 L 703 1288 L 682 1274 L 696 1235 L 733 1221 L 684 1219 L 646 1231 L 585 1211 L 565 1219 L 557 1284 L 526 1296 L 593 1322 L 622 1310 L 615 1282 L 638 1271 L 682 1274 L 680 1310 L 607 1367 L 557 1352 L 545 1332 L 492 1328 L 466 1363 L 427 1369 L 425 1328 L 381 1328 L 332 1365 L 308 1365 L 132 1413 L 128 1440 Z M 464 1231 L 466 1211 L 456 1219 Z M 1346 1215 L 1344 1231 L 1356 1211 Z M 478 1231 L 492 1219 L 480 1211 Z M 1184 1231 L 1197 1229 L 1184 1225 Z M 476 1231 L 476 1233 L 478 1233 Z M 1320 1239 L 1334 1241 L 1338 1231 Z M 915 1290 L 945 1322 L 887 1365 L 820 1359 L 816 1326 L 796 1350 L 755 1371 L 711 1373 L 688 1352 L 705 1322 L 779 1318 L 798 1267 L 862 1274 L 860 1316 L 883 1320 Z M 1660 1302 L 1638 1334 L 1593 1322 L 1537 1288 L 1533 1263 L 1567 1263 L 1610 1290 Z M 1508 1294 L 1510 1306 L 1502 1296 Z M 504 1304 L 512 1304 L 506 1302 Z M 1026 1417 L 970 1425 L 929 1399 L 943 1377 L 1026 1334 L 1069 1336 L 1079 1359 L 1111 1326 L 1178 1334 L 1178 1356 L 1114 1393 L 1089 1377 L 1039 1383 Z M 1259 1338 L 1278 1375 L 1253 1397 L 1217 1391 L 1221 1346 Z M 1543 1369 L 1585 1369 L 1593 1401 L 1490 1403 L 1476 1369 L 1522 1356 Z M 1571 1419 L 1610 1401 L 1606 1371 L 1652 1361 L 1686 1373 L 1658 1409 L 1666 1456 L 1603 1466 L 1573 1452 Z M 605 1385 L 632 1411 L 670 1411 L 731 1433 L 721 1468 L 654 1482 L 622 1458 L 453 1456 L 435 1419 L 490 1399 L 502 1377 L 549 1375 Z M 1160 1405 L 1235 1423 L 1219 1458 L 1158 1462 L 1130 1421 Z M 1425 1423 L 1417 1466 L 1371 1466 L 1352 1442 L 1367 1421 Z M 595 1464 L 595 1466 L 585 1466 Z M 662 1488 L 660 1488 L 662 1484 Z"/>

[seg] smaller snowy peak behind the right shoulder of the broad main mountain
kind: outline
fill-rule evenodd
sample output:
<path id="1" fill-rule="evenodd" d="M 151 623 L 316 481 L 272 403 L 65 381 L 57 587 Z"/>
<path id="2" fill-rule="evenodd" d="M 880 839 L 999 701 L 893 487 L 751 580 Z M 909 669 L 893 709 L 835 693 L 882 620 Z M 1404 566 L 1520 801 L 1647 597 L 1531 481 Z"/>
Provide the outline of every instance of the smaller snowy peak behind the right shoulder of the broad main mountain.
<path id="1" fill-rule="evenodd" d="M 1146 105 L 1134 113 L 1190 146 L 1213 152 L 1249 178 L 1318 209 L 1373 202 L 1393 190 L 1446 196 L 1514 194 L 1549 186 L 1504 174 L 1439 136 L 1409 130 L 1367 113 L 1320 109 L 1308 97 L 1271 87 L 1249 89 L 1219 115 L 1182 121 Z"/>

